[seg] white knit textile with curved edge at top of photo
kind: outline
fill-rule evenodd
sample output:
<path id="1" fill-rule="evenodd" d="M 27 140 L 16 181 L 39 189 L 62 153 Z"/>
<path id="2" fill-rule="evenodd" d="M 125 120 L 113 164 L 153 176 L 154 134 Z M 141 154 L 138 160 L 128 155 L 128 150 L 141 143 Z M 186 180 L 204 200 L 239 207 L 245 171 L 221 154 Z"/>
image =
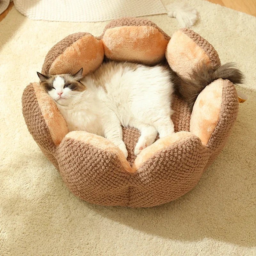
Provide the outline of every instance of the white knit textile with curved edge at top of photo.
<path id="1" fill-rule="evenodd" d="M 14 0 L 14 5 L 29 19 L 52 21 L 104 21 L 166 12 L 160 0 Z"/>

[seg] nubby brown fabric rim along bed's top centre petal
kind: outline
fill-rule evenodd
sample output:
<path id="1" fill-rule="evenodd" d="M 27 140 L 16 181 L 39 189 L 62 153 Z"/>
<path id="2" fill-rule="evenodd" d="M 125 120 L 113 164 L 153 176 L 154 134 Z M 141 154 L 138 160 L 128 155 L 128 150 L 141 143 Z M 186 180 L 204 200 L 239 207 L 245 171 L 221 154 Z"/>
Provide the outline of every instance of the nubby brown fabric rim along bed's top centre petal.
<path id="1" fill-rule="evenodd" d="M 102 38 L 102 36 L 105 34 L 105 31 L 108 28 L 116 28 L 116 27 L 123 27 L 123 26 L 151 26 L 154 28 L 157 28 L 158 31 L 163 34 L 164 39 L 170 40 L 170 36 L 168 36 L 161 28 L 158 28 L 155 23 L 153 23 L 150 20 L 142 19 L 142 18 L 134 18 L 134 17 L 126 17 L 119 20 L 112 20 L 108 23 L 108 25 L 104 28 L 103 33 L 99 38 Z"/>

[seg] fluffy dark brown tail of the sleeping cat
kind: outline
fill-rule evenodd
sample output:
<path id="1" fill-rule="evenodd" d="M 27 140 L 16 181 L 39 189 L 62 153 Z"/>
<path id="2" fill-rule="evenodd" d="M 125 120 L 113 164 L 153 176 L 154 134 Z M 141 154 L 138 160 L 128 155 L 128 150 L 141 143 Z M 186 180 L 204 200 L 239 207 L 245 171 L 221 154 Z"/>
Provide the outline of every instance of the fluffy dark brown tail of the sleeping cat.
<path id="1" fill-rule="evenodd" d="M 228 79 L 233 84 L 244 83 L 243 73 L 235 66 L 235 63 L 226 63 L 213 70 L 209 65 L 200 63 L 189 75 L 189 78 L 181 78 L 174 74 L 172 82 L 178 95 L 188 103 L 192 110 L 198 94 L 214 80 L 222 78 Z"/>

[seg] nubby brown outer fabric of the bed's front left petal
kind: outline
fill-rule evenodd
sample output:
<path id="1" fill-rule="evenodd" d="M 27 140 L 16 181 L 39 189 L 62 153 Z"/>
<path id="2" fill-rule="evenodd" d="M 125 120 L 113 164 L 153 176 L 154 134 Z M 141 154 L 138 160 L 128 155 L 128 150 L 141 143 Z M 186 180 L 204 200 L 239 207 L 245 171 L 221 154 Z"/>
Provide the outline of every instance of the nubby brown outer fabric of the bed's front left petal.
<path id="1" fill-rule="evenodd" d="M 119 159 L 82 141 L 64 138 L 58 148 L 60 173 L 82 199 L 103 205 L 128 204 L 130 182 Z"/>

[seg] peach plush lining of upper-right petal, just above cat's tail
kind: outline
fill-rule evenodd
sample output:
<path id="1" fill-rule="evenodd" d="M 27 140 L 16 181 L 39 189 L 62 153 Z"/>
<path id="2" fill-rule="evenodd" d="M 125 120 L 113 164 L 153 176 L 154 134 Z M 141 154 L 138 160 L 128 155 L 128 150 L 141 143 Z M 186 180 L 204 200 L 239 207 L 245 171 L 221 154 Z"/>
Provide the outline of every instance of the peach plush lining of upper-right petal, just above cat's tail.
<path id="1" fill-rule="evenodd" d="M 191 74 L 192 69 L 201 61 L 210 64 L 206 52 L 181 31 L 172 35 L 167 45 L 165 57 L 175 72 L 188 78 L 188 74 Z"/>

